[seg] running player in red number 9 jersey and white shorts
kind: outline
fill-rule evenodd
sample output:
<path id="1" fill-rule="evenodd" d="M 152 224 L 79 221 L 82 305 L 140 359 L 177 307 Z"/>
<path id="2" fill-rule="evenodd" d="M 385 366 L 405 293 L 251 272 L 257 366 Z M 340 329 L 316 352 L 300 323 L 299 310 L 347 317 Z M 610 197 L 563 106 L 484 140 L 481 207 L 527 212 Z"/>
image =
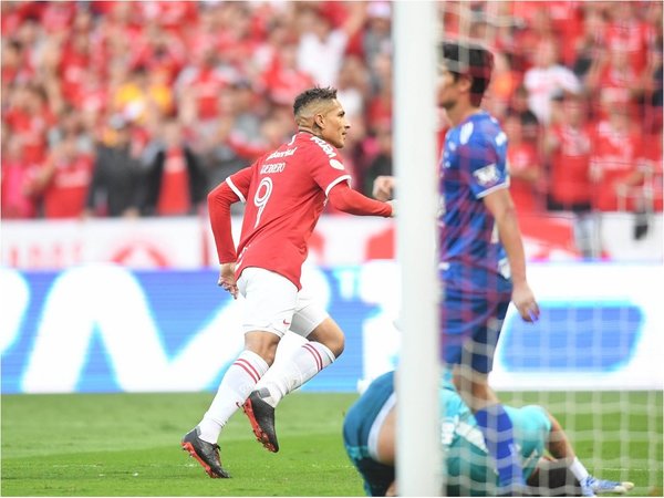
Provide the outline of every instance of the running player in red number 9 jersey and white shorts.
<path id="1" fill-rule="evenodd" d="M 343 351 L 342 330 L 300 283 L 308 240 L 325 203 L 353 215 L 393 216 L 390 203 L 370 199 L 349 185 L 338 149 L 350 125 L 336 90 L 307 90 L 295 97 L 293 111 L 299 132 L 291 141 L 231 175 L 208 196 L 221 263 L 218 283 L 234 297 L 239 292 L 246 298 L 245 350 L 224 375 L 200 423 L 181 442 L 212 478 L 229 477 L 217 439 L 238 407 L 243 407 L 263 446 L 277 452 L 274 406 Z M 246 203 L 246 210 L 236 249 L 230 206 L 237 201 Z M 308 342 L 271 369 L 288 330 Z"/>

